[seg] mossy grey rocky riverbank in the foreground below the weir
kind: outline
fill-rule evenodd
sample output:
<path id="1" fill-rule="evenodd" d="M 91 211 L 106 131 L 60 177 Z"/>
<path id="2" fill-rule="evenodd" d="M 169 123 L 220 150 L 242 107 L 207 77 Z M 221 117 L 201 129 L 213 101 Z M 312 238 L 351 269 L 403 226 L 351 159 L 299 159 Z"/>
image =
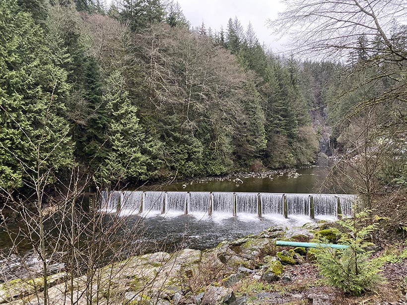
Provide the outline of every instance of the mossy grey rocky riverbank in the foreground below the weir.
<path id="1" fill-rule="evenodd" d="M 359 300 L 346 298 L 321 284 L 318 270 L 304 248 L 275 245 L 277 239 L 307 242 L 315 234 L 335 239 L 329 227 L 328 223 L 290 229 L 271 227 L 205 251 L 183 249 L 130 257 L 96 270 L 91 278 L 54 274 L 49 277 L 49 304 L 357 304 Z M 384 273 L 388 268 L 404 270 L 400 277 L 390 278 L 368 296 L 369 304 L 404 302 L 403 286 L 398 281 L 407 275 L 407 262 L 398 264 L 388 264 Z M 41 279 L 3 283 L 0 303 L 42 304 L 42 287 Z M 391 289 L 394 291 L 390 293 Z"/>

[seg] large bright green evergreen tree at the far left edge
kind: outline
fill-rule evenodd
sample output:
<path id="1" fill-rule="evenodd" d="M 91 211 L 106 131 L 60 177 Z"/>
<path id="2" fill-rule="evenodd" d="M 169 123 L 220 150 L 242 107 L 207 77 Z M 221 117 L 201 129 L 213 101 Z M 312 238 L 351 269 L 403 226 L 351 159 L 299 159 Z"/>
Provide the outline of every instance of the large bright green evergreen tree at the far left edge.
<path id="1" fill-rule="evenodd" d="M 43 30 L 15 0 L 0 3 L 0 31 L 0 186 L 13 188 L 71 164 L 68 85 Z"/>

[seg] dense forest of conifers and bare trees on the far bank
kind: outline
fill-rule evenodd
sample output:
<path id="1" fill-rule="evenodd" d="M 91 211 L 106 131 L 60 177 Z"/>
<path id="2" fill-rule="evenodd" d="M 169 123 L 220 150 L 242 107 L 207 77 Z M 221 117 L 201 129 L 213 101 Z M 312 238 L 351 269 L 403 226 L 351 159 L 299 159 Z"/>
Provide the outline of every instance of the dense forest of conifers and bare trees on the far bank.
<path id="1" fill-rule="evenodd" d="M 344 62 L 277 56 L 237 18 L 192 28 L 173 2 L 0 5 L 2 188 L 38 171 L 109 185 L 316 159 Z"/>

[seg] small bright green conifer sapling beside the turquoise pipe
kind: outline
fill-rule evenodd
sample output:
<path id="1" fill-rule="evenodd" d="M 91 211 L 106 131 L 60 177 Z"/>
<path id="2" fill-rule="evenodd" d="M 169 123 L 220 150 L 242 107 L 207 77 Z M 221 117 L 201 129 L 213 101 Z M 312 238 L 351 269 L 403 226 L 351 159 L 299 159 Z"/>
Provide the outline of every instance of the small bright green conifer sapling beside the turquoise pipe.
<path id="1" fill-rule="evenodd" d="M 379 274 L 380 262 L 371 260 L 371 251 L 364 250 L 371 245 L 366 239 L 376 230 L 376 225 L 369 223 L 366 212 L 357 214 L 353 219 L 339 221 L 338 224 L 344 232 L 338 243 L 349 247 L 346 249 L 320 247 L 310 250 L 315 255 L 324 281 L 338 287 L 344 293 L 361 295 L 383 281 Z M 320 237 L 317 242 L 328 241 Z"/>

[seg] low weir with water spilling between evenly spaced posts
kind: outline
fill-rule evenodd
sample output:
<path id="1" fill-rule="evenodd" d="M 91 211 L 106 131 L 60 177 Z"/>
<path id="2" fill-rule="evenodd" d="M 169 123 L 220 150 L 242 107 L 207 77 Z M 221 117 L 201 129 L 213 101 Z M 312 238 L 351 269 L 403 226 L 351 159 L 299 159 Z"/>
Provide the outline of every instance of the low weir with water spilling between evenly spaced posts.
<path id="1" fill-rule="evenodd" d="M 100 210 L 107 213 L 156 215 L 303 215 L 349 217 L 357 200 L 347 194 L 283 194 L 249 192 L 103 191 Z"/>

